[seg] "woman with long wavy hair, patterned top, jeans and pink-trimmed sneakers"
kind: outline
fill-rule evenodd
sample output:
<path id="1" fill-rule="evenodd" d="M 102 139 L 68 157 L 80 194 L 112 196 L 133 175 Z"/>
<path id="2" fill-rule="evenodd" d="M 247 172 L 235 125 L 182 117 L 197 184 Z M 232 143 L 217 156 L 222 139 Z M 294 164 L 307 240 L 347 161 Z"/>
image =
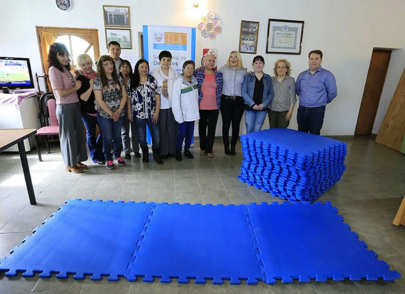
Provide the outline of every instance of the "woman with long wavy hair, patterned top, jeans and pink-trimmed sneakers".
<path id="1" fill-rule="evenodd" d="M 124 82 L 117 74 L 112 57 L 102 55 L 98 59 L 93 90 L 96 97 L 97 121 L 103 135 L 102 144 L 107 169 L 115 169 L 111 144 L 114 146 L 114 162 L 124 166 L 126 162 L 121 158 L 121 129 L 127 95 Z"/>

